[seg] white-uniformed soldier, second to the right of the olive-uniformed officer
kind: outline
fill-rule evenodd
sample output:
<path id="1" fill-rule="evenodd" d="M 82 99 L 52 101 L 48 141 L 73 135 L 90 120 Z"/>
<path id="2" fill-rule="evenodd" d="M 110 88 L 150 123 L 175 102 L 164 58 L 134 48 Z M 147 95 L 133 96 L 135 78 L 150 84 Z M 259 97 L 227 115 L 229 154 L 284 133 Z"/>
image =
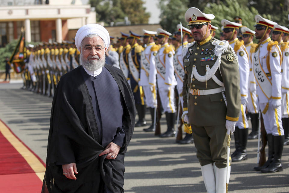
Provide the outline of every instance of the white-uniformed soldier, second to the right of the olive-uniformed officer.
<path id="1" fill-rule="evenodd" d="M 246 104 L 248 113 L 250 113 L 251 123 L 252 123 L 252 132 L 248 135 L 248 139 L 258 138 L 258 129 L 259 129 L 259 103 L 256 94 L 256 81 L 255 76 L 252 71 L 252 53 L 254 52 L 258 44 L 253 43 L 253 37 L 255 31 L 250 30 L 248 27 L 241 27 L 242 40 L 244 41 L 246 50 L 249 54 L 249 81 L 248 81 L 248 103 Z"/>

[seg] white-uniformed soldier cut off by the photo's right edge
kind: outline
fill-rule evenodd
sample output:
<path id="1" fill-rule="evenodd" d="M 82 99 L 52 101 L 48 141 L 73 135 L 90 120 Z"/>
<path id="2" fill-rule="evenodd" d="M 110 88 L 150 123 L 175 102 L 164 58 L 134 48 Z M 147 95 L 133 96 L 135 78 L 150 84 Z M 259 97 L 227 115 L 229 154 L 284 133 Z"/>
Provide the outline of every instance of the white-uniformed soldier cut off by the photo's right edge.
<path id="1" fill-rule="evenodd" d="M 289 33 L 289 29 L 278 24 L 274 25 L 272 40 L 277 41 L 282 52 L 281 65 L 281 110 L 282 110 L 282 126 L 284 129 L 284 145 L 289 144 L 288 129 L 289 129 L 289 46 L 288 42 L 283 42 L 284 34 Z M 274 145 L 273 145 L 274 146 Z"/>

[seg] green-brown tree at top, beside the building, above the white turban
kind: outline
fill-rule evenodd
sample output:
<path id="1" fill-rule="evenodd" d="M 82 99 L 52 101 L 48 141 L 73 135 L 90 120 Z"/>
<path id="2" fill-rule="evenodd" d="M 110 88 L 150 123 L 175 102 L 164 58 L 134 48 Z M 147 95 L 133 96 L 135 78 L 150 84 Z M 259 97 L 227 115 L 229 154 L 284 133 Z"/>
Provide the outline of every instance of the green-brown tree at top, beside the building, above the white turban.
<path id="1" fill-rule="evenodd" d="M 110 22 L 123 21 L 128 17 L 131 24 L 147 24 L 150 13 L 146 12 L 142 0 L 90 0 L 95 7 L 97 21 Z"/>

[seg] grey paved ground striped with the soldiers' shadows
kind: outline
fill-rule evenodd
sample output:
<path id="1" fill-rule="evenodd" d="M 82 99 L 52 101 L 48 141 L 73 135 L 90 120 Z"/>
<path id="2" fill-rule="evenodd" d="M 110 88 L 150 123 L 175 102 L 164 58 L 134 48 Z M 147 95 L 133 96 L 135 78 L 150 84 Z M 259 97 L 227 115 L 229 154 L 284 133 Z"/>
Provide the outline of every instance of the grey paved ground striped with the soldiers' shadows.
<path id="1" fill-rule="evenodd" d="M 17 83 L 0 84 L 0 118 L 46 162 L 52 99 L 20 87 Z M 161 123 L 165 131 L 164 115 Z M 206 192 L 194 144 L 179 145 L 175 138 L 158 138 L 142 129 L 135 128 L 126 153 L 125 192 Z M 234 141 L 232 150 L 233 145 Z M 273 174 L 253 171 L 257 165 L 257 140 L 248 141 L 247 151 L 248 160 L 232 164 L 230 192 L 289 192 L 289 146 L 283 151 L 284 170 Z"/>

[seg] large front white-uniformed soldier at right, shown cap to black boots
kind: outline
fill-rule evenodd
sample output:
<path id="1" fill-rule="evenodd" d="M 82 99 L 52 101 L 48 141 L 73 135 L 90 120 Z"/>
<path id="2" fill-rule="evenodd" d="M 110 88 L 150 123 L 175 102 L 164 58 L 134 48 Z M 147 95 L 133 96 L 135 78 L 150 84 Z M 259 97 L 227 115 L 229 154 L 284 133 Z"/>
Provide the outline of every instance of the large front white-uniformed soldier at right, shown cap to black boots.
<path id="1" fill-rule="evenodd" d="M 281 50 L 278 42 L 270 39 L 275 22 L 255 16 L 255 37 L 259 46 L 253 53 L 253 72 L 257 82 L 257 95 L 260 111 L 264 119 L 264 127 L 268 140 L 268 160 L 261 167 L 264 173 L 282 170 L 281 156 L 284 144 L 284 130 L 281 117 Z"/>

